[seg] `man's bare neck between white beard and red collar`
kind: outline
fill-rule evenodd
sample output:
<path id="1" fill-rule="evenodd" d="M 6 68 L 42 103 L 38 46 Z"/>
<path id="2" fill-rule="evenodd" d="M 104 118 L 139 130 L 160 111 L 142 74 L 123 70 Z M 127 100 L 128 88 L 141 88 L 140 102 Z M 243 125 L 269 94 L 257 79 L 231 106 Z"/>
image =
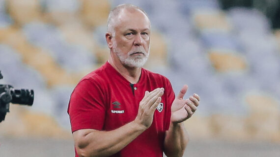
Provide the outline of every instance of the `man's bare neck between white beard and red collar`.
<path id="1" fill-rule="evenodd" d="M 109 59 L 109 64 L 114 67 L 127 81 L 132 84 L 138 83 L 141 76 L 140 67 L 127 67 L 124 66 L 119 60 Z"/>

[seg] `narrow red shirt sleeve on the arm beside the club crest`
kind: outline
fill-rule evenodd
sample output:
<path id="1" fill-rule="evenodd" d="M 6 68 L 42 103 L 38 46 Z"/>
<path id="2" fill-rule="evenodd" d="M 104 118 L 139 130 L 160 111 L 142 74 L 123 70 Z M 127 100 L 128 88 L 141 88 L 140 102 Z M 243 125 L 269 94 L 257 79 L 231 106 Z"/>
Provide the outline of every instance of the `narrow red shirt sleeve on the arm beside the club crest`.
<path id="1" fill-rule="evenodd" d="M 167 79 L 167 78 L 166 78 Z M 167 112 L 165 113 L 165 130 L 167 131 L 169 129 L 170 125 L 170 118 L 171 118 L 171 106 L 172 103 L 175 99 L 175 93 L 172 89 L 170 81 L 167 79 L 167 86 L 166 86 L 166 91 L 167 91 Z"/>

